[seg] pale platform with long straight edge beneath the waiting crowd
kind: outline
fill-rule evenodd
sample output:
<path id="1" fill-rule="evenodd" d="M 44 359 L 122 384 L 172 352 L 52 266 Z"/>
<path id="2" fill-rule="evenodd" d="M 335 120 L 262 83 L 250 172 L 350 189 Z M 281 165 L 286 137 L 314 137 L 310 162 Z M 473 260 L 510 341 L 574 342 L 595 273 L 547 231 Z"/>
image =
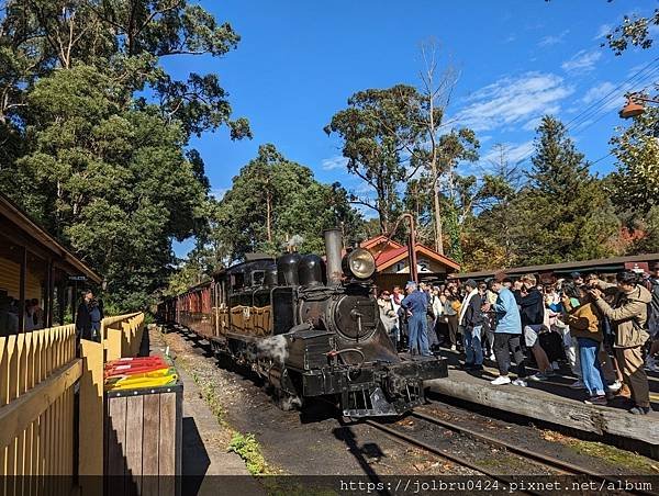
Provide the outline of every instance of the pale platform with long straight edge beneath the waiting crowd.
<path id="1" fill-rule="evenodd" d="M 443 350 L 442 354 L 449 359 L 449 372 L 446 379 L 426 383 L 434 393 L 603 438 L 645 443 L 652 455 L 659 455 L 659 376 L 656 374 L 648 374 L 655 412 L 637 416 L 627 413 L 622 398 L 608 406 L 583 403 L 583 391 L 570 387 L 576 377 L 565 370 L 557 371 L 551 381 L 528 381 L 527 387 L 495 386 L 490 384 L 498 375 L 494 363 L 485 361 L 482 372 L 467 372 L 459 369 L 457 352 Z"/>

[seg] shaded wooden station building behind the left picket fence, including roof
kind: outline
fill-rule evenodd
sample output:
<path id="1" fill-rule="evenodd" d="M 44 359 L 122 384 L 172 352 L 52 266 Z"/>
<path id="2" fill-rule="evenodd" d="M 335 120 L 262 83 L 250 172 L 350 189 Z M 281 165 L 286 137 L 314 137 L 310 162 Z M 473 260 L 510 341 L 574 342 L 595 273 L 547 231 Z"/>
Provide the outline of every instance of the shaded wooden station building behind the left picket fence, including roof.
<path id="1" fill-rule="evenodd" d="M 0 193 L 0 335 L 13 330 L 2 328 L 10 327 L 3 313 L 15 312 L 18 330 L 24 330 L 25 300 L 38 300 L 40 327 L 65 324 L 66 308 L 75 315 L 79 290 L 100 283 L 96 272 Z"/>

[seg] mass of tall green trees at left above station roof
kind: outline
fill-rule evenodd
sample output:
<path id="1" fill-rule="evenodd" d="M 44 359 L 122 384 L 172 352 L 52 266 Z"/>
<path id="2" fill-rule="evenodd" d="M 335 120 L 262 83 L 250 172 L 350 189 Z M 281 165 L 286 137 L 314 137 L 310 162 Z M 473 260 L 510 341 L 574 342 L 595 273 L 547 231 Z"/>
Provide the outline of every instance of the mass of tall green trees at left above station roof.
<path id="1" fill-rule="evenodd" d="M 239 40 L 186 0 L 9 0 L 0 16 L 0 191 L 145 308 L 203 232 L 209 181 L 191 135 L 231 120 L 214 74 L 175 80 L 161 57 L 222 56 Z M 146 99 L 144 94 L 150 94 Z"/>

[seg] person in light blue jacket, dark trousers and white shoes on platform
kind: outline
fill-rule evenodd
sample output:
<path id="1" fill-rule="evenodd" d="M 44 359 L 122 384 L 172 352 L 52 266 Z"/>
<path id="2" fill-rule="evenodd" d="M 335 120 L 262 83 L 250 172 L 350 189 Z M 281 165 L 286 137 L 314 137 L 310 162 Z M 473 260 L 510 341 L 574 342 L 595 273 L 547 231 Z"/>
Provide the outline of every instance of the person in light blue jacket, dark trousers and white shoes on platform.
<path id="1" fill-rule="evenodd" d="M 498 272 L 492 281 L 492 291 L 496 293 L 496 303 L 487 304 L 484 309 L 494 311 L 496 316 L 496 328 L 494 329 L 494 356 L 499 367 L 499 377 L 491 383 L 493 385 L 514 384 L 526 386 L 526 368 L 524 367 L 524 353 L 522 352 L 522 318 L 520 308 L 513 292 L 506 288 L 512 281 L 503 272 Z M 511 381 L 509 369 L 513 353 L 517 364 L 517 379 Z"/>

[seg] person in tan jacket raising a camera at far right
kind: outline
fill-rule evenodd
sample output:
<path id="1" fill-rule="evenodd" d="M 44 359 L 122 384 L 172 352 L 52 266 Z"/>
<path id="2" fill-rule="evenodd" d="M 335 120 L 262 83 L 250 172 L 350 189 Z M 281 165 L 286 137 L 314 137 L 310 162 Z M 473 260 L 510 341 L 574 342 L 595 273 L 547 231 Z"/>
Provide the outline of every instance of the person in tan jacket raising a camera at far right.
<path id="1" fill-rule="evenodd" d="M 638 274 L 630 270 L 618 272 L 616 281 L 617 284 L 608 284 L 593 279 L 589 284 L 589 293 L 593 304 L 613 326 L 616 359 L 634 402 L 629 413 L 647 415 L 650 413 L 650 391 L 644 370 L 643 346 L 649 338 L 646 329 L 651 295 L 638 283 Z M 614 295 L 612 305 L 602 297 L 604 294 Z"/>

